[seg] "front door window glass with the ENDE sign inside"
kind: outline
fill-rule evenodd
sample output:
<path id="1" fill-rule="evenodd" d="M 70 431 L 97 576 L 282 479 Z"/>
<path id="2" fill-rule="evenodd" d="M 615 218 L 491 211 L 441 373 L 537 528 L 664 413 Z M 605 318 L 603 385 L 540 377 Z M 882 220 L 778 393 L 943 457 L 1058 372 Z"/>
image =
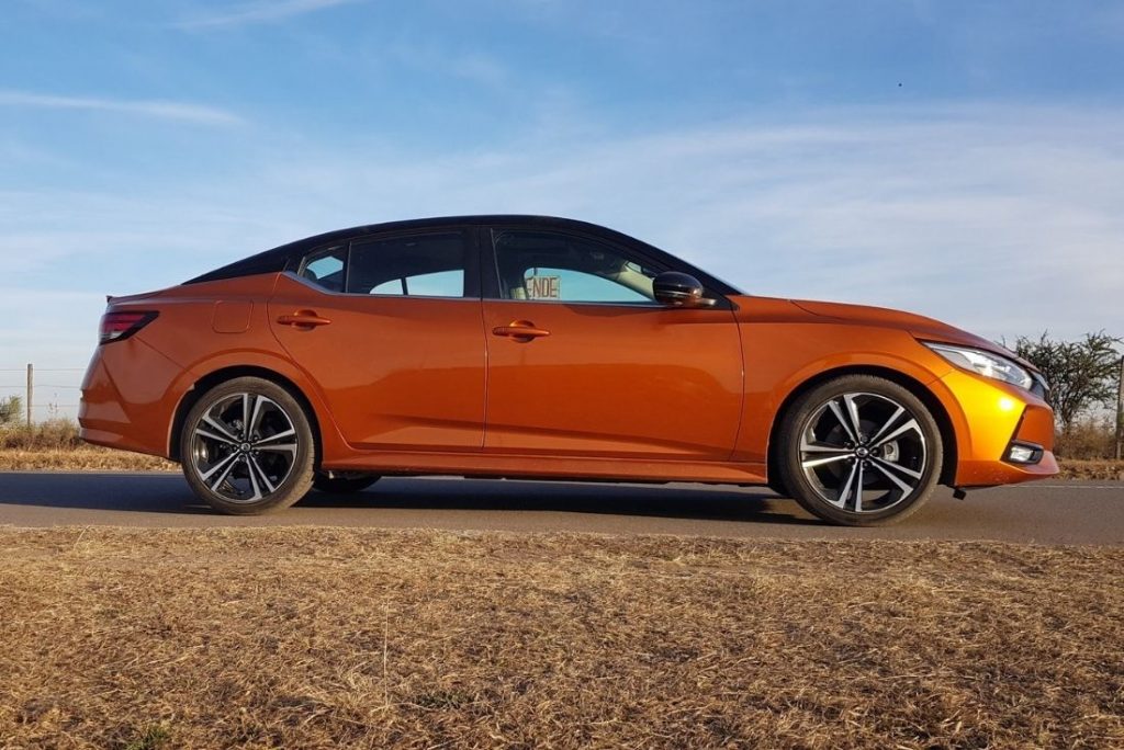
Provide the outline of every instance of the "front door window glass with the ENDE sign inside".
<path id="1" fill-rule="evenodd" d="M 596 240 L 547 231 L 495 235 L 500 296 L 505 300 L 645 303 L 655 298 L 646 268 Z"/>

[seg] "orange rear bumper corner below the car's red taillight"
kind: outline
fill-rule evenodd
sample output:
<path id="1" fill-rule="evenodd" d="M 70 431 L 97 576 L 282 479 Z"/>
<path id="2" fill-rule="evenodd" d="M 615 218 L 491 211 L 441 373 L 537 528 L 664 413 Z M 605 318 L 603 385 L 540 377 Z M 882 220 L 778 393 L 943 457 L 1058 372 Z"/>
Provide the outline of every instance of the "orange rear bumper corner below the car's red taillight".
<path id="1" fill-rule="evenodd" d="M 79 435 L 93 445 L 167 458 L 179 402 L 172 386 L 181 372 L 139 336 L 99 346 L 82 381 Z"/>

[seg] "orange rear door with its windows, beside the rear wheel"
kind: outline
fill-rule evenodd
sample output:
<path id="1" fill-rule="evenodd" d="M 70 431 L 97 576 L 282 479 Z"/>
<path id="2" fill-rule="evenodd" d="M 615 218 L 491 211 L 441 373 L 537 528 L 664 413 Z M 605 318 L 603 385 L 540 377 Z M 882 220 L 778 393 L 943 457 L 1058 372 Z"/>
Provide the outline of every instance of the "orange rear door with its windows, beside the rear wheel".
<path id="1" fill-rule="evenodd" d="M 278 340 L 357 448 L 480 450 L 484 341 L 475 234 L 461 228 L 321 247 L 279 280 Z"/>

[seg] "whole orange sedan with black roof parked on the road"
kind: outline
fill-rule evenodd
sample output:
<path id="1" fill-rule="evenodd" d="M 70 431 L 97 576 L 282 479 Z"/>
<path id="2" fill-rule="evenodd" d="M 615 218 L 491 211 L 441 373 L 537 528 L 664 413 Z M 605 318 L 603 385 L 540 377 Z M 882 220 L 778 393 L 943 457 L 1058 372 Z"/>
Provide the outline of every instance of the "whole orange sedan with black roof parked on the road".
<path id="1" fill-rule="evenodd" d="M 872 524 L 937 483 L 1054 474 L 1045 390 L 935 320 L 751 296 L 609 229 L 487 216 L 111 298 L 80 421 L 228 513 L 452 474 L 769 485 Z"/>

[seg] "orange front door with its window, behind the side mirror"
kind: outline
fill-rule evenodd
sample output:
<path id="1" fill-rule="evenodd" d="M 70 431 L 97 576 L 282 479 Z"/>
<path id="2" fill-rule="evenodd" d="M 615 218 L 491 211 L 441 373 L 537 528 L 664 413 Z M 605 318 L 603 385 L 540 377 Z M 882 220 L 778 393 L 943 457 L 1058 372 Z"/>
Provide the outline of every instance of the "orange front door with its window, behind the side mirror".
<path id="1" fill-rule="evenodd" d="M 742 406 L 731 305 L 668 308 L 637 249 L 486 230 L 489 452 L 725 460 Z M 488 253 L 491 250 L 491 253 Z"/>

